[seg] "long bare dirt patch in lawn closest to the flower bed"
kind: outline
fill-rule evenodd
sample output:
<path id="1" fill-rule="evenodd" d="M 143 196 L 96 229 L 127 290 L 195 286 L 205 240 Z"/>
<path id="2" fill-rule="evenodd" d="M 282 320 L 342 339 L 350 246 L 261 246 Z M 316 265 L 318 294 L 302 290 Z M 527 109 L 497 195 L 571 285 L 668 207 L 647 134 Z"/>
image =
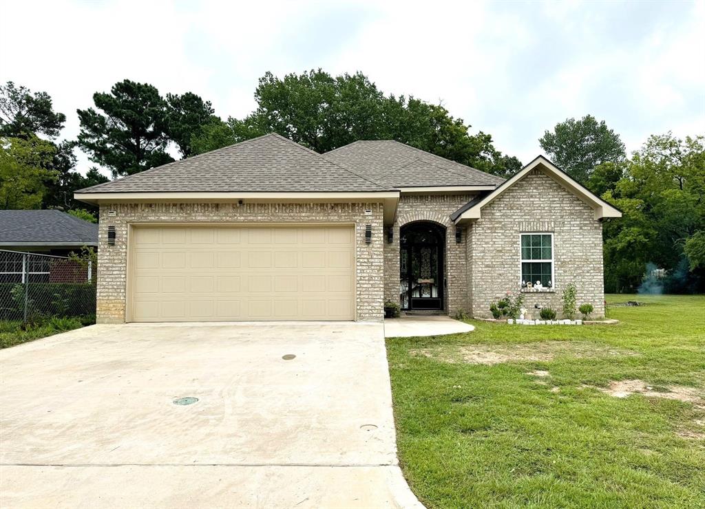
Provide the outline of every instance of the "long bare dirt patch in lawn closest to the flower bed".
<path id="1" fill-rule="evenodd" d="M 434 358 L 446 363 L 494 365 L 525 361 L 547 361 L 558 356 L 572 358 L 634 356 L 636 352 L 589 341 L 539 341 L 522 344 L 474 344 L 456 348 L 417 348 L 412 356 Z"/>

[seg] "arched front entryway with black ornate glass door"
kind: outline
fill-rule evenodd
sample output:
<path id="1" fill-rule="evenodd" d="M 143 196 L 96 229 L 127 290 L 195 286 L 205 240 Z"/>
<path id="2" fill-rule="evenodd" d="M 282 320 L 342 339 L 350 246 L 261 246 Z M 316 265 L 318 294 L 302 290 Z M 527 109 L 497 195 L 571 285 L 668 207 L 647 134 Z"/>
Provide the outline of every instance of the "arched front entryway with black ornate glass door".
<path id="1" fill-rule="evenodd" d="M 411 222 L 400 228 L 401 308 L 442 310 L 446 228 L 435 222 Z"/>

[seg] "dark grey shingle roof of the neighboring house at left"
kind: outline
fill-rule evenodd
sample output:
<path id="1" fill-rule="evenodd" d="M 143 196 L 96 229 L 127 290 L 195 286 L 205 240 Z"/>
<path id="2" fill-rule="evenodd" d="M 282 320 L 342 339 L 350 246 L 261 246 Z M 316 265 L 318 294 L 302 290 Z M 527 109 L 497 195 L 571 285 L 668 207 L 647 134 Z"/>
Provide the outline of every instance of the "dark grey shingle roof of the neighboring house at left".
<path id="1" fill-rule="evenodd" d="M 98 245 L 98 225 L 61 210 L 0 210 L 0 246 L 83 245 Z"/>

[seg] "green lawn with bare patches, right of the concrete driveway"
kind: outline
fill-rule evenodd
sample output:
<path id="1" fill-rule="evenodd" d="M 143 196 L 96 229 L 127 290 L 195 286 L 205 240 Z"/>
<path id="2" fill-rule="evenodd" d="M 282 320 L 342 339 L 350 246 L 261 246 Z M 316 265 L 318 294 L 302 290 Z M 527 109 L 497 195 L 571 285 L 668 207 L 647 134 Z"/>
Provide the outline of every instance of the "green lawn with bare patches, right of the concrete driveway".
<path id="1" fill-rule="evenodd" d="M 646 305 L 617 306 L 634 299 Z M 470 320 L 470 334 L 387 340 L 400 461 L 419 500 L 705 507 L 705 296 L 608 303 L 619 325 Z M 689 401 L 600 390 L 620 380 Z"/>

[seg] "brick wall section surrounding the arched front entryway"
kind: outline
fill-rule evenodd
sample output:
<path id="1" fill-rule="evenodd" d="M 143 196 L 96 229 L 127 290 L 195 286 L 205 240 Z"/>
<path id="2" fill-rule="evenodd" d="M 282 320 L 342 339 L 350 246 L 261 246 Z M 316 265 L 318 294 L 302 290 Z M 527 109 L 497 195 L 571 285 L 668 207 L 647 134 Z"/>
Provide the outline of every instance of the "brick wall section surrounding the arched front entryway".
<path id="1" fill-rule="evenodd" d="M 400 302 L 399 297 L 399 230 L 400 227 L 415 221 L 433 221 L 446 227 L 446 253 L 444 253 L 443 273 L 448 282 L 444 291 L 443 309 L 454 315 L 459 309 L 470 309 L 467 299 L 467 255 L 465 252 L 465 231 L 463 241 L 455 242 L 455 225 L 450 214 L 458 210 L 474 195 L 448 194 L 403 194 L 397 208 L 394 223 L 394 239 L 391 244 L 384 240 L 384 300 Z M 464 228 L 462 230 L 465 230 Z"/>

